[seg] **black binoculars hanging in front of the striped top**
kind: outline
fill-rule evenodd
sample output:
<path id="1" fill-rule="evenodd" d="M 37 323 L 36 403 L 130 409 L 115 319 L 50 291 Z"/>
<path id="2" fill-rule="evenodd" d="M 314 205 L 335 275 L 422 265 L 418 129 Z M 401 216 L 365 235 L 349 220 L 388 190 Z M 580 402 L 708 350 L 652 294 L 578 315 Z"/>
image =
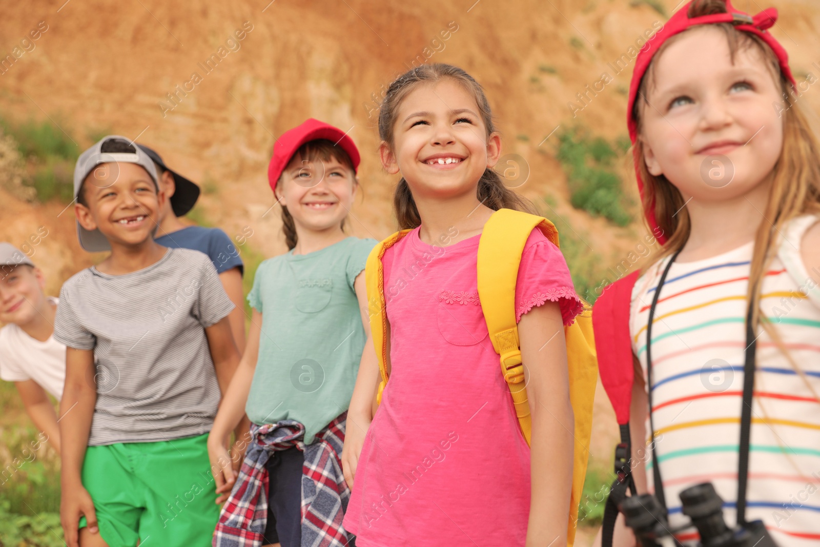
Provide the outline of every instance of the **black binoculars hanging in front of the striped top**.
<path id="1" fill-rule="evenodd" d="M 703 547 L 777 547 L 768 535 L 763 521 L 745 522 L 730 528 L 723 518 L 723 500 L 711 482 L 691 486 L 681 491 L 682 513 L 698 529 Z M 667 510 L 651 494 L 625 498 L 620 505 L 626 526 L 635 531 L 642 547 L 681 547 L 667 522 Z"/>

